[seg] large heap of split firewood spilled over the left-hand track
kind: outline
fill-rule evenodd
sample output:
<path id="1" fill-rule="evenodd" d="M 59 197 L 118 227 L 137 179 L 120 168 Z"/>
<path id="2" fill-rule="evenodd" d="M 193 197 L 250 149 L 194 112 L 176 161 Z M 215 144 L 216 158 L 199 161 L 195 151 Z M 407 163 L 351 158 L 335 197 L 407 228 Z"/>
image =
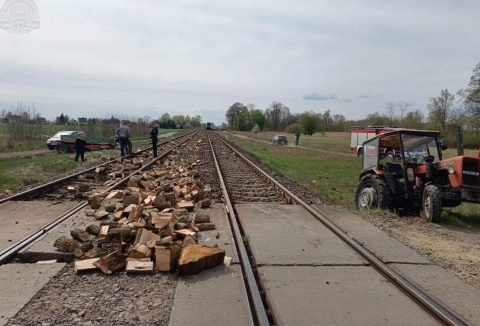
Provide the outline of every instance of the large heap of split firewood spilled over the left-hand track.
<path id="1" fill-rule="evenodd" d="M 100 224 L 73 229 L 70 237 L 60 237 L 54 243 L 58 250 L 72 252 L 79 259 L 74 263 L 76 273 L 157 270 L 188 276 L 231 261 L 217 245 L 202 245 L 196 240 L 198 232 L 215 229 L 210 216 L 202 212 L 213 201 L 210 187 L 203 185 L 196 170 L 201 162 L 198 150 L 192 149 L 188 159 L 179 157 L 181 151 L 173 150 L 153 170 L 130 177 L 123 190 L 102 195 L 98 188 L 77 192 L 88 198 L 85 214 Z M 122 167 L 135 171 L 141 164 L 133 158 Z M 98 168 L 96 174 L 106 176 L 104 186 L 108 187 L 115 183 L 113 178 L 122 178 L 123 171 L 110 166 Z"/>

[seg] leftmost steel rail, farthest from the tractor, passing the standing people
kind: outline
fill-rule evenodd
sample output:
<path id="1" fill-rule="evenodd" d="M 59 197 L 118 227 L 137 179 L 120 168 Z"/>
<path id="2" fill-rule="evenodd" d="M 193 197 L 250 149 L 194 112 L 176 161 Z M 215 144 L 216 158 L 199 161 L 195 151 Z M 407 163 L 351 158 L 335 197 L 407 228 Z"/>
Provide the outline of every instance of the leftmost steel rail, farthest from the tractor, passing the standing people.
<path id="1" fill-rule="evenodd" d="M 161 145 L 164 145 L 164 144 L 167 144 L 168 142 L 172 141 L 172 140 L 177 140 L 177 139 L 180 139 L 182 137 L 185 137 L 186 135 L 190 135 L 194 133 L 193 132 L 189 132 L 187 134 L 183 134 L 183 135 L 180 135 L 178 137 L 175 137 L 175 138 L 171 138 L 169 140 L 166 140 L 166 141 L 163 141 L 161 143 L 159 143 L 157 145 L 158 146 L 161 146 Z M 147 150 L 149 150 L 150 148 L 152 148 L 152 146 L 149 146 L 149 147 L 145 147 L 145 148 L 142 148 L 142 149 L 139 149 L 137 150 L 136 152 L 132 153 L 132 154 L 128 154 L 128 155 L 124 155 L 124 156 L 120 156 L 120 157 L 117 157 L 113 160 L 110 160 L 108 162 L 103 162 L 102 164 L 99 164 L 98 166 L 95 166 L 95 167 L 92 167 L 92 168 L 89 168 L 89 169 L 86 169 L 86 170 L 83 170 L 83 171 L 80 171 L 80 172 L 77 172 L 77 173 L 74 173 L 72 175 L 69 175 L 69 176 L 66 176 L 66 177 L 63 177 L 63 178 L 60 178 L 60 179 L 57 179 L 57 180 L 54 180 L 54 181 L 51 181 L 49 183 L 46 183 L 46 184 L 43 184 L 43 185 L 39 185 L 37 187 L 34 187 L 34 188 L 31 188 L 31 189 L 28 189 L 28 190 L 25 190 L 25 191 L 22 191 L 18 194 L 15 194 L 15 195 L 12 195 L 12 196 L 9 196 L 9 197 L 5 197 L 5 198 L 2 198 L 0 199 L 0 204 L 3 204 L 7 201 L 12 201 L 12 200 L 22 200 L 22 199 L 25 199 L 25 198 L 32 198 L 32 197 L 36 197 L 36 196 L 39 196 L 42 192 L 46 191 L 46 190 L 50 190 L 52 188 L 54 188 L 55 186 L 63 183 L 63 182 L 66 182 L 70 179 L 73 179 L 75 177 L 78 177 L 79 175 L 82 175 L 84 173 L 89 173 L 91 171 L 94 171 L 95 169 L 99 168 L 99 167 L 102 167 L 102 166 L 105 166 L 107 164 L 111 164 L 111 163 L 114 163 L 115 161 L 117 161 L 118 159 L 125 159 L 125 158 L 129 158 L 129 157 L 133 157 L 134 155 L 136 154 L 139 154 L 139 153 L 143 153 Z"/>

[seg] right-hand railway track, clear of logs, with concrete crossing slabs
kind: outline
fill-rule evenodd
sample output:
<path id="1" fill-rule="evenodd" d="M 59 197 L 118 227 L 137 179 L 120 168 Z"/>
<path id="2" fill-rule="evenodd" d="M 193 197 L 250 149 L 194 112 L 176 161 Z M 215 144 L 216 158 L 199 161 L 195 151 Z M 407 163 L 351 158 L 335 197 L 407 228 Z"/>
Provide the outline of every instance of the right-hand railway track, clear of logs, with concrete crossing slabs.
<path id="1" fill-rule="evenodd" d="M 308 203 L 300 199 L 298 196 L 272 178 L 265 171 L 253 164 L 252 161 L 242 155 L 242 153 L 240 153 L 234 147 L 229 145 L 221 137 L 213 132 L 209 132 L 208 138 L 210 141 L 210 147 L 213 153 L 217 173 L 223 189 L 223 194 L 225 196 L 226 206 L 229 210 L 229 221 L 233 230 L 237 251 L 241 260 L 245 286 L 246 289 L 248 289 L 247 299 L 250 303 L 251 315 L 255 321 L 255 324 L 262 326 L 270 324 L 289 324 L 286 322 L 285 318 L 288 314 L 288 311 L 295 311 L 294 309 L 291 310 L 291 306 L 297 307 L 297 310 L 302 309 L 302 300 L 300 298 L 293 297 L 285 300 L 285 298 L 279 298 L 278 293 L 281 292 L 280 290 L 273 289 L 273 284 L 281 283 L 278 281 L 282 276 L 281 268 L 283 268 L 283 271 L 285 271 L 288 268 L 295 268 L 295 266 L 298 268 L 301 268 L 301 266 L 304 268 L 314 266 L 345 266 L 345 268 L 355 268 L 352 266 L 358 266 L 358 270 L 368 272 L 365 275 L 371 277 L 372 274 L 376 274 L 376 277 L 380 276 L 385 280 L 380 282 L 388 282 L 395 289 L 397 289 L 399 296 L 398 300 L 402 302 L 408 300 L 409 302 L 404 304 L 415 305 L 418 307 L 419 311 L 415 311 L 415 313 L 418 314 L 418 317 L 413 317 L 413 315 L 415 315 L 413 311 L 406 311 L 403 314 L 400 313 L 401 317 L 410 313 L 412 315 L 411 318 L 418 324 L 427 324 L 428 322 L 435 324 L 436 322 L 437 324 L 469 325 L 468 321 L 463 316 L 459 315 L 457 312 L 453 311 L 453 309 L 441 303 L 437 298 L 429 295 L 419 286 L 409 282 L 395 269 L 391 268 L 389 265 L 372 254 L 369 250 L 364 248 L 361 244 L 356 242 L 344 230 L 326 218 L 326 216 L 319 213 Z M 272 205 L 279 202 L 284 204 L 281 205 L 283 206 L 283 209 L 280 205 Z M 245 205 L 244 203 L 248 204 Z M 287 203 L 290 203 L 290 205 Z M 292 206 L 297 206 L 298 209 L 302 209 L 302 215 L 309 215 L 308 219 L 310 226 L 315 228 L 321 227 L 322 230 L 325 230 L 322 232 L 328 231 L 331 234 L 329 236 L 334 235 L 333 237 L 335 238 L 336 246 L 346 247 L 347 250 L 356 256 L 355 259 L 357 259 L 357 257 L 361 257 L 361 262 L 359 262 L 358 265 L 356 265 L 356 262 L 352 264 L 332 263 L 324 265 L 322 262 L 315 264 L 308 260 L 307 263 L 303 263 L 301 258 L 300 261 L 297 259 L 297 255 L 301 256 L 303 252 L 295 252 L 295 254 L 292 256 L 288 256 L 288 254 L 282 252 L 282 248 L 286 247 L 283 246 L 281 236 L 276 236 L 274 234 L 277 229 L 272 230 L 271 233 L 268 233 L 269 228 L 265 227 L 265 225 L 270 225 L 272 221 L 275 222 L 275 218 L 277 218 L 277 216 L 278 220 L 280 220 L 280 223 L 283 222 L 284 224 L 295 225 L 297 223 L 296 221 L 289 222 L 289 219 L 282 220 L 280 218 L 282 211 L 285 209 L 288 211 L 287 214 L 294 212 L 294 210 L 288 208 Z M 278 210 L 278 213 L 275 212 L 276 209 Z M 272 212 L 269 212 L 269 210 Z M 248 212 L 250 212 L 250 214 L 248 214 Z M 271 219 L 265 219 L 265 221 L 261 221 L 260 219 L 264 217 L 264 213 L 265 216 L 271 216 Z M 299 214 L 297 215 L 298 218 L 301 217 Z M 316 221 L 315 223 L 317 224 L 312 224 L 314 223 L 312 220 Z M 287 225 L 287 227 L 290 226 Z M 256 231 L 259 229 L 260 231 Z M 304 225 L 299 225 L 297 230 L 300 230 L 299 233 L 307 235 L 309 232 L 314 232 L 310 230 L 306 231 L 307 229 L 308 228 L 304 227 Z M 254 238 L 255 235 L 259 235 L 259 237 Z M 294 235 L 291 236 L 294 237 Z M 271 238 L 271 241 L 269 241 L 269 238 Z M 275 240 L 278 239 L 280 239 L 279 243 L 275 243 Z M 312 242 L 311 240 L 312 239 L 309 241 Z M 339 242 L 342 242 L 342 245 L 339 245 Z M 271 248 L 269 245 L 271 245 Z M 275 248 L 276 246 L 278 246 L 278 248 Z M 313 246 L 316 248 L 319 247 L 315 244 L 313 244 Z M 288 251 L 288 249 L 285 250 Z M 305 251 L 306 249 L 301 250 Z M 311 257 L 315 258 L 317 255 L 322 256 L 325 254 L 321 252 L 321 249 L 315 249 L 313 255 L 311 254 L 311 256 L 307 256 L 307 259 Z M 287 258 L 286 260 L 282 261 L 282 257 Z M 338 268 L 339 271 L 341 270 L 341 267 L 330 268 Z M 309 273 L 311 272 L 312 271 L 310 270 Z M 276 280 L 274 280 L 272 283 L 270 283 L 272 278 L 269 277 L 269 273 L 270 275 L 274 275 L 274 279 L 276 278 Z M 362 278 L 362 276 L 359 275 L 358 278 Z M 308 281 L 308 279 L 303 280 L 301 276 L 298 276 L 298 278 L 295 278 L 293 282 L 302 283 Z M 357 279 L 355 279 L 355 281 L 357 281 Z M 282 285 L 276 285 L 275 287 L 281 288 L 282 286 L 287 286 L 286 283 L 288 282 L 285 281 Z M 330 284 L 329 282 L 325 283 L 327 285 Z M 316 285 L 312 286 L 315 287 Z M 320 285 L 319 289 L 322 289 Z M 348 294 L 352 295 L 352 297 L 355 297 L 356 294 L 353 292 L 354 291 L 352 291 L 352 294 L 350 292 Z M 303 293 L 299 294 L 303 295 Z M 294 294 L 292 294 L 292 296 L 294 296 Z M 375 298 L 370 299 L 372 302 L 375 301 Z M 379 299 L 379 302 L 382 303 L 383 300 Z M 342 302 L 342 304 L 346 305 L 345 302 Z M 399 306 L 401 305 L 402 304 L 399 304 Z M 391 309 L 401 308 L 391 307 Z M 332 307 L 331 310 L 335 310 L 335 308 Z M 302 315 L 302 317 L 306 318 L 306 320 L 309 320 L 310 322 L 316 321 L 318 324 L 318 322 L 320 322 L 320 315 L 318 315 L 318 312 L 316 312 L 316 314 L 316 317 L 314 316 L 315 318 L 313 319 L 311 318 L 312 316 L 310 316 L 310 320 L 308 313 Z M 325 312 L 325 314 L 328 315 L 328 312 Z M 368 312 L 366 312 L 366 314 L 368 315 Z M 392 314 L 395 315 L 395 313 Z M 422 318 L 425 320 L 425 323 L 421 321 Z M 300 322 L 300 320 L 297 320 L 297 322 Z M 350 323 L 352 322 L 353 321 Z M 322 323 L 335 324 L 335 321 L 322 319 Z M 359 321 L 359 324 L 363 323 Z"/>

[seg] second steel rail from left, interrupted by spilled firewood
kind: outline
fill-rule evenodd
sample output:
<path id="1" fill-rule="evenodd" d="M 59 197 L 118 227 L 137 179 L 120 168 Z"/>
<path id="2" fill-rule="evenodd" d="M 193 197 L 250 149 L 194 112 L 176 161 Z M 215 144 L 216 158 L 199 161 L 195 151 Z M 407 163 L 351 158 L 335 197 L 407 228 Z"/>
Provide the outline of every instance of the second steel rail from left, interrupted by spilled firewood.
<path id="1" fill-rule="evenodd" d="M 145 166 L 141 167 L 140 169 L 136 170 L 135 172 L 129 174 L 127 177 L 119 180 L 118 182 L 116 182 L 114 185 L 112 185 L 111 187 L 109 187 L 108 189 L 106 189 L 105 191 L 101 192 L 100 195 L 105 195 L 107 194 L 108 192 L 114 190 L 115 188 L 117 188 L 118 186 L 122 185 L 123 183 L 125 183 L 126 181 L 128 181 L 128 179 L 130 177 L 133 177 L 134 175 L 138 174 L 139 172 L 142 172 L 143 170 L 145 170 L 146 168 L 152 166 L 157 160 L 159 160 L 160 158 L 163 158 L 165 157 L 166 155 L 168 155 L 173 149 L 176 149 L 177 147 L 181 146 L 183 143 L 185 143 L 186 141 L 190 140 L 191 138 L 193 138 L 199 131 L 196 131 L 196 132 L 193 132 L 193 133 L 188 133 L 186 135 L 190 135 L 190 137 L 186 138 L 185 140 L 183 140 L 182 142 L 178 143 L 176 146 L 166 150 L 165 152 L 163 152 L 162 154 L 160 154 L 158 157 L 156 157 L 155 159 L 153 159 L 152 161 L 148 162 L 148 164 L 146 164 Z M 185 135 L 182 135 L 182 136 L 185 136 Z M 176 138 L 178 139 L 178 138 Z M 11 245 L 10 247 L 8 247 L 7 249 L 3 250 L 2 252 L 0 252 L 0 265 L 3 265 L 4 263 L 6 263 L 9 259 L 11 259 L 13 256 L 15 256 L 20 250 L 22 250 L 23 248 L 27 247 L 28 245 L 30 245 L 31 243 L 33 243 L 35 240 L 39 239 L 40 237 L 42 237 L 43 235 L 47 234 L 49 231 L 55 229 L 56 227 L 58 227 L 62 222 L 64 222 L 65 220 L 67 220 L 68 218 L 70 218 L 73 214 L 79 212 L 83 207 L 85 207 L 88 203 L 85 201 L 85 202 L 82 202 L 80 204 L 78 204 L 77 206 L 71 208 L 70 210 L 68 210 L 67 212 L 63 213 L 61 216 L 59 216 L 59 218 L 55 219 L 54 221 L 48 223 L 47 225 L 41 227 L 40 229 L 34 231 L 33 233 L 31 233 L 30 235 L 26 236 L 25 238 L 21 239 L 20 241 L 16 242 L 15 244 Z"/>

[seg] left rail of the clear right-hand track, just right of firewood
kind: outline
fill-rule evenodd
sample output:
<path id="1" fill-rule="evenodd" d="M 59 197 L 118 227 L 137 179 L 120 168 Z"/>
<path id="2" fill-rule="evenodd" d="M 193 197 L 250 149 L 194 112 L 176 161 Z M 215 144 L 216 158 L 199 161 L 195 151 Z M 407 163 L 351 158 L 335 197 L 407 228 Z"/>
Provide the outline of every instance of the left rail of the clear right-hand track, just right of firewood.
<path id="1" fill-rule="evenodd" d="M 233 210 L 232 202 L 230 201 L 230 197 L 227 192 L 227 187 L 225 185 L 222 172 L 220 171 L 219 162 L 216 159 L 215 151 L 213 149 L 213 145 L 211 143 L 210 135 L 208 135 L 208 141 L 210 143 L 210 149 L 212 151 L 213 161 L 215 163 L 216 171 L 219 174 L 220 185 L 222 187 L 222 191 L 225 197 L 225 202 L 228 207 L 228 216 L 230 220 L 230 225 L 232 226 L 232 231 L 235 238 L 235 243 L 237 245 L 237 251 L 239 252 L 240 260 L 242 262 L 241 266 L 244 271 L 244 275 L 246 277 L 245 283 L 248 286 L 251 296 L 251 304 L 254 309 L 254 316 L 256 318 L 257 324 L 260 326 L 268 326 L 270 325 L 269 318 L 267 316 L 267 312 L 265 311 L 263 300 L 260 296 L 260 291 L 256 284 L 255 276 L 253 275 L 253 269 L 250 264 L 250 260 L 248 258 L 247 250 L 245 249 L 245 245 L 242 240 L 242 234 L 240 232 L 240 227 L 238 226 L 237 216 Z M 248 298 L 247 298 L 248 299 Z M 251 313 L 251 311 L 250 311 Z"/>

